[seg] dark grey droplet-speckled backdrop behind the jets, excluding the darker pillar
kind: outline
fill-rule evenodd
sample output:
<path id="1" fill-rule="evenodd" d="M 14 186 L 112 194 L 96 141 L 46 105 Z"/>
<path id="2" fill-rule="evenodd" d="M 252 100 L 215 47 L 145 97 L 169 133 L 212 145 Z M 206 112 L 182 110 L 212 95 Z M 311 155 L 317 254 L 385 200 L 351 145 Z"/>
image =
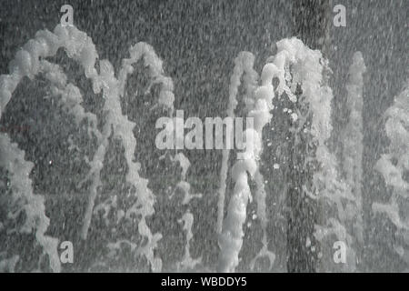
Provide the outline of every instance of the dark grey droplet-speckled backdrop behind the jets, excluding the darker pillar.
<path id="1" fill-rule="evenodd" d="M 18 48 L 33 38 L 36 31 L 54 29 L 62 15 L 59 13 L 60 7 L 65 3 L 67 2 L 0 1 L 2 74 L 7 73 L 7 64 L 13 59 Z M 130 45 L 137 41 L 153 45 L 157 55 L 164 60 L 165 73 L 174 80 L 175 107 L 184 109 L 188 115 L 200 118 L 224 115 L 234 57 L 240 51 L 248 50 L 255 55 L 255 68 L 260 72 L 266 57 L 274 53 L 274 43 L 284 37 L 293 36 L 292 1 L 111 0 L 69 1 L 69 4 L 74 7 L 75 25 L 92 37 L 100 59 L 109 59 L 116 72 L 121 59 L 128 56 Z M 370 207 L 373 201 L 385 201 L 389 195 L 382 177 L 375 173 L 372 167 L 387 144 L 382 131 L 382 114 L 392 104 L 394 95 L 400 92 L 407 78 L 408 1 L 334 1 L 335 4 L 346 6 L 347 26 L 331 29 L 328 57 L 334 71 L 331 82 L 334 89 L 335 137 L 332 144 L 336 146 L 337 143 L 342 143 L 336 139 L 336 134 L 344 125 L 344 84 L 352 55 L 354 51 L 360 50 L 367 66 L 364 77 L 363 191 L 367 243 L 365 262 L 368 270 L 397 270 L 401 266 L 400 261 L 390 247 L 394 240 L 393 231 L 388 230 L 388 226 L 371 215 Z M 66 61 L 64 56 L 57 58 Z M 75 65 L 68 65 L 66 68 L 75 72 Z M 86 81 L 74 73 L 71 76 L 79 84 L 84 85 L 85 92 L 88 91 L 89 84 Z M 75 128 L 61 121 L 56 114 L 47 112 L 47 105 L 37 101 L 25 101 L 25 98 L 29 97 L 25 96 L 24 92 L 40 90 L 38 85 L 32 87 L 28 85 L 28 88 L 21 90 L 16 90 L 13 101 L 7 107 L 7 114 L 0 122 L 2 125 L 30 125 L 29 133 L 10 135 L 25 149 L 27 159 L 35 162 L 33 179 L 38 193 L 47 191 L 72 193 L 75 183 L 82 174 L 80 169 L 67 165 L 70 163 L 67 162 L 69 157 L 64 154 L 64 141 L 68 135 L 65 131 L 75 132 Z M 98 107 L 92 98 L 85 97 L 85 103 L 90 108 Z M 127 108 L 130 111 L 135 108 L 137 112 L 141 111 L 141 105 L 142 101 L 130 103 Z M 144 119 L 144 115 L 136 115 L 135 112 L 138 126 L 145 126 L 147 132 L 154 131 L 155 118 L 151 117 L 149 122 Z M 65 130 L 58 132 L 55 130 L 58 128 Z M 154 146 L 155 139 L 152 140 L 152 135 L 143 132 L 144 130 L 141 136 L 136 135 L 137 140 L 141 140 L 146 148 Z M 153 219 L 152 228 L 164 235 L 159 255 L 164 258 L 166 269 L 183 255 L 184 233 L 176 221 L 185 209 L 175 210 L 175 207 L 166 203 L 165 189 L 168 185 L 175 185 L 173 177 L 175 168 L 158 164 L 158 155 L 145 150 L 145 146 L 136 149 L 136 157 L 143 165 L 142 175 L 151 180 L 150 186 L 158 196 L 155 208 L 156 214 L 159 215 Z M 185 155 L 192 163 L 188 180 L 194 192 L 204 195 L 201 201 L 194 201 L 190 206 L 195 215 L 195 238 L 191 253 L 194 257 L 203 256 L 205 266 L 212 268 L 217 255 L 214 233 L 217 200 L 215 190 L 218 187 L 221 152 L 185 151 Z M 48 165 L 49 160 L 55 161 L 53 168 Z M 113 161 L 110 165 L 112 169 L 115 165 L 120 168 L 121 161 L 117 160 L 116 163 Z M 268 177 L 272 175 L 270 170 L 271 165 L 265 165 L 264 176 L 274 181 L 273 177 Z M 272 206 L 276 189 L 273 185 L 267 188 L 269 189 L 267 204 Z M 47 202 L 47 214 L 52 217 L 50 234 L 61 239 L 75 240 L 73 236 L 76 236 L 75 229 L 78 229 L 75 223 L 78 222 L 73 222 L 75 220 L 73 217 L 82 217 L 83 209 L 81 210 L 81 206 L 74 200 L 69 206 L 66 203 L 64 206 L 58 205 L 61 202 L 58 202 L 57 206 L 50 201 Z M 58 210 L 61 207 L 65 210 Z M 250 210 L 253 208 L 254 205 L 251 205 Z M 272 240 L 276 241 L 276 246 L 280 246 L 280 238 L 276 237 L 280 236 L 280 230 L 277 229 L 279 226 L 275 222 L 269 226 L 269 233 Z M 97 226 L 94 227 L 97 229 Z M 246 270 L 245 263 L 258 250 L 259 236 L 259 231 L 246 230 L 244 262 L 239 266 L 239 270 Z M 95 247 L 97 253 L 96 241 L 95 235 L 95 241 L 91 240 L 84 247 Z M 276 251 L 279 253 L 277 262 L 284 262 L 284 258 L 281 258 L 284 256 L 281 254 L 282 251 Z M 88 259 L 92 260 L 90 257 Z M 87 260 L 86 256 L 84 260 Z M 283 267 L 277 266 L 276 270 L 283 270 Z M 264 267 L 260 266 L 259 270 L 263 269 Z"/>

